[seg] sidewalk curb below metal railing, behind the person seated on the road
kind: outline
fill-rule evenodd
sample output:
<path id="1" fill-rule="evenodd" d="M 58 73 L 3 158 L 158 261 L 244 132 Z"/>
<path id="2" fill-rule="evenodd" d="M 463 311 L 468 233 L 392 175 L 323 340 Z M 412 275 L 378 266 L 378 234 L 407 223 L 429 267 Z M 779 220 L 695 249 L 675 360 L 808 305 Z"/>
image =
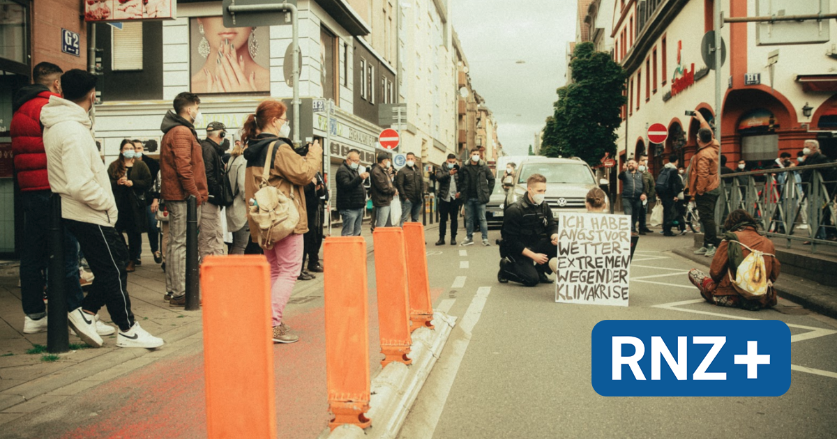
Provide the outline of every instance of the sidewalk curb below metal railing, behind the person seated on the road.
<path id="1" fill-rule="evenodd" d="M 711 258 L 695 254 L 694 250 L 688 247 L 675 248 L 671 252 L 705 267 L 709 267 L 712 262 Z M 773 284 L 773 288 L 782 299 L 788 299 L 805 309 L 837 319 L 837 291 L 834 291 L 834 288 L 784 273 Z"/>

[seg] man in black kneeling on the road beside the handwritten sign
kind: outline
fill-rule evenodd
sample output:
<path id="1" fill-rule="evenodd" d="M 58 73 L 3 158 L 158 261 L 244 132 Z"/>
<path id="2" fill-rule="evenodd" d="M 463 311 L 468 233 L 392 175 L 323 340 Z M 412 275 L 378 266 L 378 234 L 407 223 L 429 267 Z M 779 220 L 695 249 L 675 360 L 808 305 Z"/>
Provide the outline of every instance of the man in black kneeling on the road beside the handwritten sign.
<path id="1" fill-rule="evenodd" d="M 497 280 L 534 287 L 538 283 L 552 283 L 547 278 L 552 273 L 547 263 L 557 257 L 558 224 L 552 218 L 552 210 L 543 202 L 547 177 L 532 174 L 526 186 L 526 197 L 506 207 Z"/>

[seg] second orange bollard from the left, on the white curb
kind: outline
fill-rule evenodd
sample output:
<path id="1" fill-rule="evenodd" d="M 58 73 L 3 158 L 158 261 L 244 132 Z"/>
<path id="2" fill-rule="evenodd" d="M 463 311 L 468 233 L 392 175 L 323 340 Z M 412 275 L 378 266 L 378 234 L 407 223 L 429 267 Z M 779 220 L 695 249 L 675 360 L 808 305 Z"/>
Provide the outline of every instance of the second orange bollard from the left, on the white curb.
<path id="1" fill-rule="evenodd" d="M 366 241 L 327 237 L 323 244 L 326 301 L 326 382 L 331 430 L 366 428 L 369 411 L 369 302 Z"/>

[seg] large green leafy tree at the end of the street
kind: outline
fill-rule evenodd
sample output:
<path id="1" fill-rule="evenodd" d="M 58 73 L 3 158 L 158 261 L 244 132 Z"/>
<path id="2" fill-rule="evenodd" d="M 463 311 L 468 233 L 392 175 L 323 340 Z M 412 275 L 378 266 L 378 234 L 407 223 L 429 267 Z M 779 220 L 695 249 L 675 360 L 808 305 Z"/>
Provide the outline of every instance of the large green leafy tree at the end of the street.
<path id="1" fill-rule="evenodd" d="M 570 62 L 573 81 L 557 89 L 554 114 L 543 129 L 544 156 L 578 156 L 598 163 L 609 152 L 616 156 L 616 129 L 625 104 L 625 72 L 593 43 L 578 44 Z"/>

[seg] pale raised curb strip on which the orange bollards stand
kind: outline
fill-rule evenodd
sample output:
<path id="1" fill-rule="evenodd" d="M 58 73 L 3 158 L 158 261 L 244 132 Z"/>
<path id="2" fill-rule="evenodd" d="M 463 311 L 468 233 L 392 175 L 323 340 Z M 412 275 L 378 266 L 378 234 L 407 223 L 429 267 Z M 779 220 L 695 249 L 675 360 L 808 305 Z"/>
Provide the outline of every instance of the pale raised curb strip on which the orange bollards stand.
<path id="1" fill-rule="evenodd" d="M 321 439 L 394 439 L 404 425 L 410 408 L 419 396 L 424 381 L 439 360 L 456 318 L 441 311 L 434 312 L 435 329 L 419 328 L 413 332 L 409 357 L 413 365 L 393 362 L 372 379 L 372 397 L 367 417 L 372 426 L 364 431 L 358 426 L 342 425 L 329 433 L 326 428 Z"/>

